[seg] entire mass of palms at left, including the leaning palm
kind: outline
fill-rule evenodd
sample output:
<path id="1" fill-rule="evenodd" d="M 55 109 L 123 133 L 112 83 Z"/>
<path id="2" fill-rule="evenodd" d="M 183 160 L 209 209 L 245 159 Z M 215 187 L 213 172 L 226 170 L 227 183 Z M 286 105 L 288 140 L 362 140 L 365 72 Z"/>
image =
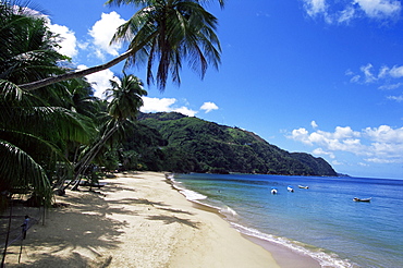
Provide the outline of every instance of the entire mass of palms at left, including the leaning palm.
<path id="1" fill-rule="evenodd" d="M 134 119 L 146 95 L 141 80 L 117 74 L 119 81 L 111 81 L 106 101 L 94 97 L 84 76 L 121 61 L 125 70 L 145 63 L 147 83 L 154 82 L 156 72 L 163 90 L 168 78 L 180 84 L 187 61 L 203 77 L 209 65 L 220 63 L 217 19 L 202 5 L 207 2 L 108 0 L 107 4 L 137 9 L 112 38 L 126 44 L 126 52 L 77 71 L 58 52 L 60 38 L 40 12 L 24 5 L 28 2 L 0 1 L 0 209 L 15 194 L 50 205 L 54 188 L 76 190 L 83 176 L 96 180 L 95 167 L 130 166 L 136 151 L 158 154 L 146 143 L 134 146 L 136 150 L 121 149 L 122 141 L 135 131 Z M 218 2 L 223 7 L 222 0 Z"/>

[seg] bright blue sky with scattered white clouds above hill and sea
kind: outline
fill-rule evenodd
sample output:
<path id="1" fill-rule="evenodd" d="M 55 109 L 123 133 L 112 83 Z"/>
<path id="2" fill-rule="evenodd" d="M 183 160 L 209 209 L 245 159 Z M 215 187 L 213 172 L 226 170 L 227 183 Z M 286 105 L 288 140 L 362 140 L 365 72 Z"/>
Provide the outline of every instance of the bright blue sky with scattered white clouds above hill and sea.
<path id="1" fill-rule="evenodd" d="M 108 46 L 136 11 L 102 0 L 37 0 L 61 51 L 83 69 L 124 52 Z M 228 0 L 222 63 L 204 81 L 184 65 L 180 87 L 146 87 L 145 112 L 180 111 L 239 126 L 341 173 L 403 179 L 403 21 L 398 0 Z M 122 65 L 87 78 L 97 96 Z M 145 70 L 126 71 L 145 81 Z"/>

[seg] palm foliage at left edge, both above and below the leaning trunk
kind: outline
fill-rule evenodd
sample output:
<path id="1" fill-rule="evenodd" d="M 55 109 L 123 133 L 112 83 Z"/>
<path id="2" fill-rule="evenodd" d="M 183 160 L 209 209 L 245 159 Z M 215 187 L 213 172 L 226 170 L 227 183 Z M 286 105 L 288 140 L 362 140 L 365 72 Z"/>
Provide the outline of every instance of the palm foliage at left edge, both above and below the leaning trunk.
<path id="1" fill-rule="evenodd" d="M 57 65 L 65 57 L 56 52 L 45 22 L 25 11 L 0 2 L 0 193 L 32 193 L 49 204 L 49 174 L 57 161 L 69 166 L 62 154 L 69 141 L 88 142 L 89 124 L 53 105 L 68 94 L 57 96 L 54 87 L 27 93 L 15 85 L 65 72 Z"/>

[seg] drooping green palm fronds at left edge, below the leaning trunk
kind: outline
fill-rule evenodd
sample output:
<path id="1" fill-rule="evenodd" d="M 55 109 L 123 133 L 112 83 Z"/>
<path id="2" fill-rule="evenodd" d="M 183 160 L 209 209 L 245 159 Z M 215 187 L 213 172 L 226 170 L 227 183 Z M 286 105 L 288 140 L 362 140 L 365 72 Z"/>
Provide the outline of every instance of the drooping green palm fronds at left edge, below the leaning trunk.
<path id="1" fill-rule="evenodd" d="M 0 89 L 0 193 L 30 193 L 48 205 L 56 163 L 70 165 L 63 147 L 86 143 L 88 124 L 68 109 L 35 106 L 37 97 L 11 82 L 1 81 Z"/>

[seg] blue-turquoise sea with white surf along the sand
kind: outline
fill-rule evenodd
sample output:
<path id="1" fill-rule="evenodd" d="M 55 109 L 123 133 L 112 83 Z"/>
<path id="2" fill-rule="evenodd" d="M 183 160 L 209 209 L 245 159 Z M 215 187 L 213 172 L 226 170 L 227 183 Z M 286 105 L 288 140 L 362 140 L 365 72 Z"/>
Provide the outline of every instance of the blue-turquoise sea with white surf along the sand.
<path id="1" fill-rule="evenodd" d="M 241 232 L 310 255 L 322 267 L 403 267 L 403 180 L 175 174 L 174 182 Z"/>

